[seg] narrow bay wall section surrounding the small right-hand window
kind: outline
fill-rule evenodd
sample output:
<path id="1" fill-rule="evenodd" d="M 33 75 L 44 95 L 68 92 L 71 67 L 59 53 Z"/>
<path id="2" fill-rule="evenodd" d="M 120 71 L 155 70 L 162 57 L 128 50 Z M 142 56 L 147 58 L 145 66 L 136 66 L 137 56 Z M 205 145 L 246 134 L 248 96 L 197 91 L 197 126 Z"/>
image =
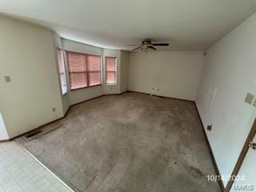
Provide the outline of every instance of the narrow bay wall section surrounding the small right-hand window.
<path id="1" fill-rule="evenodd" d="M 117 83 L 116 85 L 106 85 L 106 73 L 103 73 L 103 94 L 120 94 L 121 93 L 121 50 L 103 50 L 103 71 L 105 72 L 105 57 L 117 58 Z"/>

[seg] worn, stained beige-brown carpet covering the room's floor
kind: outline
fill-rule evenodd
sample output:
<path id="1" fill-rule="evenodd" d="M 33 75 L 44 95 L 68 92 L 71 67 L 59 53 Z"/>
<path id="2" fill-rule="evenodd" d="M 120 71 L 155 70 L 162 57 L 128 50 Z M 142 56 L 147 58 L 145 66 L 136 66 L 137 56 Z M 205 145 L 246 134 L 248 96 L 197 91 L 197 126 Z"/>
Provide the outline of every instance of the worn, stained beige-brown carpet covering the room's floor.
<path id="1" fill-rule="evenodd" d="M 72 106 L 60 128 L 25 146 L 81 192 L 215 192 L 218 182 L 193 102 L 146 94 Z"/>

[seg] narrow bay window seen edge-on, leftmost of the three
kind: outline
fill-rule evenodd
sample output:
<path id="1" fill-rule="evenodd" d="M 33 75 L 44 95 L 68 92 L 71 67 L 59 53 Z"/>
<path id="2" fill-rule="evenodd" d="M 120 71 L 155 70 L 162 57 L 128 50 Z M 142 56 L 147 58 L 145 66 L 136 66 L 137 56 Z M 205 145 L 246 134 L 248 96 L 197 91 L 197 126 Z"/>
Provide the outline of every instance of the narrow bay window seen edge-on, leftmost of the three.
<path id="1" fill-rule="evenodd" d="M 67 86 L 66 86 L 66 73 L 65 73 L 65 66 L 64 66 L 63 50 L 57 49 L 57 54 L 58 54 L 59 78 L 61 80 L 61 85 L 62 85 L 62 95 L 64 95 L 67 93 Z"/>

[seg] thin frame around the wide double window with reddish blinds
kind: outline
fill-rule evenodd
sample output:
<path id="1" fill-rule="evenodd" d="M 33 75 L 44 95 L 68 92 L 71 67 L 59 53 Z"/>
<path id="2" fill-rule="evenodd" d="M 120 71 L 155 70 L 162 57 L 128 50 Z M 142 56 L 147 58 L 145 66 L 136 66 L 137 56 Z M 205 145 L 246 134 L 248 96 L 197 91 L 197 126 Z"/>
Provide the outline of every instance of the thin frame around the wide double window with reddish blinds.
<path id="1" fill-rule="evenodd" d="M 69 86 L 70 86 L 70 91 L 73 91 L 73 90 L 82 90 L 82 89 L 86 89 L 86 88 L 90 88 L 90 87 L 94 87 L 94 86 L 102 86 L 102 55 L 98 55 L 98 54 L 86 54 L 86 53 L 82 53 L 82 52 L 77 52 L 77 51 L 74 51 L 74 50 L 64 50 L 65 51 L 65 55 L 66 55 L 66 63 L 67 63 L 67 69 L 68 69 L 68 75 L 69 75 Z M 99 71 L 88 71 L 86 70 L 86 72 L 81 72 L 81 73 L 86 73 L 86 80 L 87 80 L 87 86 L 82 86 L 82 87 L 78 87 L 78 88 L 74 88 L 72 89 L 71 88 L 71 81 L 70 81 L 70 65 L 68 63 L 68 54 L 67 52 L 72 52 L 72 53 L 75 53 L 75 54 L 84 54 L 86 55 L 86 60 L 87 60 L 87 55 L 92 55 L 92 56 L 97 56 L 99 57 Z M 88 69 L 88 62 L 86 61 L 86 69 Z M 93 86 L 90 86 L 90 78 L 89 78 L 89 74 L 91 72 L 98 72 L 100 74 L 100 83 L 97 84 L 97 85 L 93 85 Z"/>

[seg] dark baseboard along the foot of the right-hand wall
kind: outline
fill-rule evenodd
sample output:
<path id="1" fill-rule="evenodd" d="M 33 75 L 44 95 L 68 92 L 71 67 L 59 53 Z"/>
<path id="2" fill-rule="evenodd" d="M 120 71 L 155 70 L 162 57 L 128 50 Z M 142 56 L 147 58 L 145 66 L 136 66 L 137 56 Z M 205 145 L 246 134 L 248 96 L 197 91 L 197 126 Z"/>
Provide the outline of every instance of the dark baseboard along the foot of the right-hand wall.
<path id="1" fill-rule="evenodd" d="M 210 142 L 209 142 L 209 139 L 208 139 L 207 134 L 206 134 L 206 130 L 204 129 L 204 126 L 203 126 L 203 124 L 202 124 L 202 118 L 201 118 L 201 116 L 200 116 L 200 114 L 199 114 L 198 106 L 196 105 L 196 102 L 194 102 L 194 106 L 195 106 L 195 109 L 197 110 L 198 118 L 200 119 L 203 133 L 205 134 L 205 139 L 206 139 L 206 142 L 207 142 L 209 151 L 210 151 L 210 156 L 211 156 L 212 162 L 213 162 L 213 164 L 214 164 L 214 169 L 215 169 L 216 173 L 217 173 L 219 176 L 221 176 L 221 174 L 220 174 L 220 172 L 219 172 L 219 170 L 218 170 L 218 165 L 217 165 L 216 159 L 214 158 L 213 150 L 211 149 Z M 219 177 L 219 178 L 221 178 L 221 177 Z M 224 187 L 224 184 L 223 184 L 222 179 L 218 179 L 218 184 L 219 184 L 219 186 L 221 186 L 222 191 L 225 191 L 225 187 Z"/>

